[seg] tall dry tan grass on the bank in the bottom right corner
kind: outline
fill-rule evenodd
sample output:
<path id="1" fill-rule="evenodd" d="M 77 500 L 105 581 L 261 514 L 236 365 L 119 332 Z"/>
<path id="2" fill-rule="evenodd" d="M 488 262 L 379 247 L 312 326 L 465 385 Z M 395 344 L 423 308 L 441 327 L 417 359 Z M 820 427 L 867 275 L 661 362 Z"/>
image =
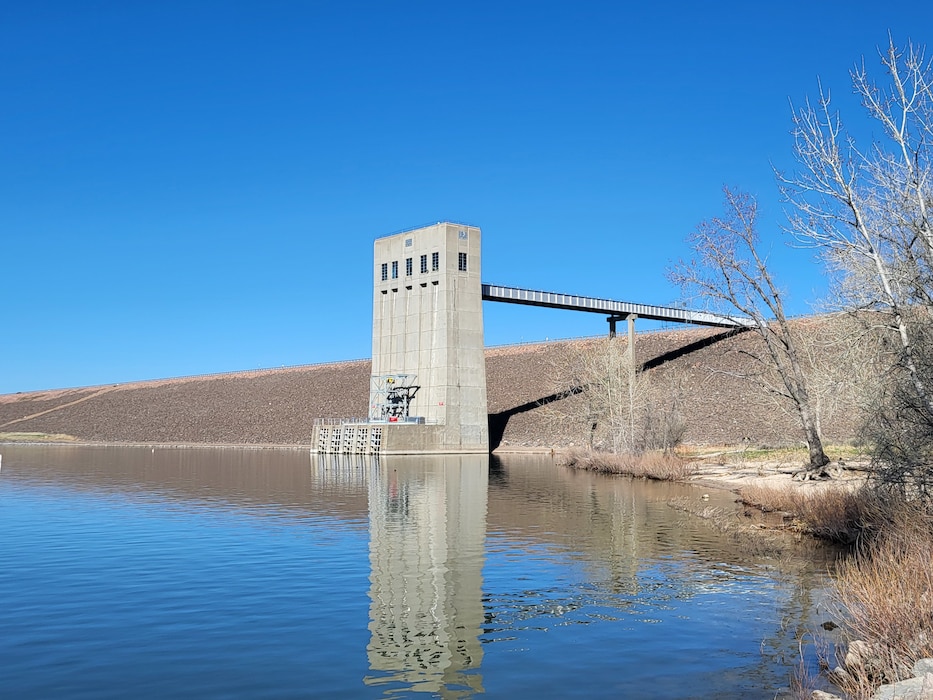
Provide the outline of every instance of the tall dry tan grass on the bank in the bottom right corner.
<path id="1" fill-rule="evenodd" d="M 867 487 L 746 487 L 741 496 L 792 514 L 803 531 L 853 545 L 833 584 L 849 644 L 830 674 L 848 697 L 870 698 L 933 657 L 933 512 Z"/>

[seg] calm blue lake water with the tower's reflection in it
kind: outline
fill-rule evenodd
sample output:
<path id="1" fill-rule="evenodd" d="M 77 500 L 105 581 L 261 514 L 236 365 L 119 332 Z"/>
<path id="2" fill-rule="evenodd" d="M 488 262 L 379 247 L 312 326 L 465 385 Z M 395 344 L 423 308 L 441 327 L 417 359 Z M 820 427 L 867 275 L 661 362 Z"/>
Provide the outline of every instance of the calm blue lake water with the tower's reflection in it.
<path id="1" fill-rule="evenodd" d="M 0 453 L 4 697 L 773 698 L 824 585 L 541 457 Z"/>

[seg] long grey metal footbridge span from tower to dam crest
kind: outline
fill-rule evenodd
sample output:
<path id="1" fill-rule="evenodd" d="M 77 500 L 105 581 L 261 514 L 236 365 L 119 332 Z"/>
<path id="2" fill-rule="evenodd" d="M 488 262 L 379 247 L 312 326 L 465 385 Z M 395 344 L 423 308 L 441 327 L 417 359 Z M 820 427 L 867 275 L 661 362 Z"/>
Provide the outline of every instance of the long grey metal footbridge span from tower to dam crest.
<path id="1" fill-rule="evenodd" d="M 676 309 L 669 306 L 652 306 L 650 304 L 633 304 L 627 301 L 613 301 L 611 299 L 597 299 L 595 297 L 581 297 L 555 292 L 539 292 L 532 289 L 502 287 L 494 284 L 483 285 L 483 301 L 503 301 L 509 304 L 589 311 L 591 313 L 609 314 L 619 319 L 634 314 L 638 318 L 647 318 L 654 321 L 692 323 L 698 326 L 716 326 L 719 328 L 743 328 L 751 325 L 751 319 L 741 316 L 723 316 L 707 311 L 691 311 L 690 309 Z"/>

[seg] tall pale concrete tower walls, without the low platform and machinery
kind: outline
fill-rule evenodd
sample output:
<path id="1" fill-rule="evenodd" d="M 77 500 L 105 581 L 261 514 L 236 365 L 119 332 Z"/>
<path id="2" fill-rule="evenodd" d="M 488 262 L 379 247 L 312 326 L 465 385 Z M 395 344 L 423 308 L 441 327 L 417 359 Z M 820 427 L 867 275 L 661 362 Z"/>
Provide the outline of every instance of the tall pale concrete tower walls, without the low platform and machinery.
<path id="1" fill-rule="evenodd" d="M 480 243 L 475 226 L 438 223 L 373 248 L 372 373 L 417 375 L 410 415 L 440 426 L 432 451 L 489 445 Z"/>

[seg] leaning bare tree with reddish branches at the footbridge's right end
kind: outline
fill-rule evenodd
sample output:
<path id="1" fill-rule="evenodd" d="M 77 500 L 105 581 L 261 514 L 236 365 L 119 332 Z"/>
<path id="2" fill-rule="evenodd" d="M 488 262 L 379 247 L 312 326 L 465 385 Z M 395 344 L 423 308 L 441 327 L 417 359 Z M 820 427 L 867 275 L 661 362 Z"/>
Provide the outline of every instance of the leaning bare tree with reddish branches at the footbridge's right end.
<path id="1" fill-rule="evenodd" d="M 765 357 L 758 359 L 772 367 L 780 379 L 778 383 L 766 383 L 765 388 L 793 406 L 809 448 L 809 468 L 821 471 L 829 458 L 823 451 L 781 291 L 767 259 L 758 252 L 757 202 L 746 193 L 729 188 L 723 192 L 724 215 L 697 227 L 689 238 L 692 260 L 681 263 L 668 276 L 688 296 L 701 297 L 718 311 L 738 312 L 748 319 L 766 349 Z"/>

